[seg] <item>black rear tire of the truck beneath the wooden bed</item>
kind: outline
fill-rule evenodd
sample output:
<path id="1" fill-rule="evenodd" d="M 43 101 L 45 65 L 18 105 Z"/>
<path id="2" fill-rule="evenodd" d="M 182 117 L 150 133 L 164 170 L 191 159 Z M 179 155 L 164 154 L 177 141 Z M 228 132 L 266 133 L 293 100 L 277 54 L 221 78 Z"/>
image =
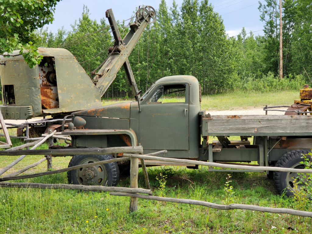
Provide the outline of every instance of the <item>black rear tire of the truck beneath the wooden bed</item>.
<path id="1" fill-rule="evenodd" d="M 291 152 L 288 152 L 284 154 L 276 163 L 275 167 L 283 167 L 283 168 L 300 168 L 304 169 L 304 165 L 301 164 L 300 162 L 304 161 L 303 157 L 304 155 L 311 159 L 310 155 L 308 154 L 310 151 L 308 150 L 302 150 L 302 149 L 297 149 L 293 150 Z M 291 172 L 279 172 L 279 171 L 274 171 L 273 173 L 273 179 L 275 183 L 275 187 L 277 191 L 280 194 L 285 193 L 287 197 L 291 197 L 294 195 L 293 193 L 293 182 L 292 182 L 292 177 L 295 178 L 297 177 L 297 173 L 291 173 Z M 298 185 L 298 187 L 301 187 Z"/>

